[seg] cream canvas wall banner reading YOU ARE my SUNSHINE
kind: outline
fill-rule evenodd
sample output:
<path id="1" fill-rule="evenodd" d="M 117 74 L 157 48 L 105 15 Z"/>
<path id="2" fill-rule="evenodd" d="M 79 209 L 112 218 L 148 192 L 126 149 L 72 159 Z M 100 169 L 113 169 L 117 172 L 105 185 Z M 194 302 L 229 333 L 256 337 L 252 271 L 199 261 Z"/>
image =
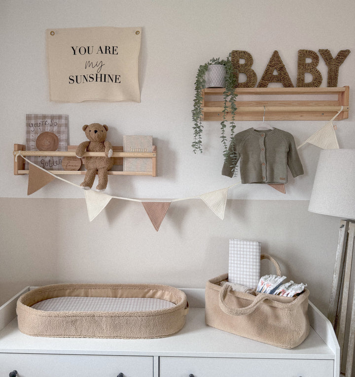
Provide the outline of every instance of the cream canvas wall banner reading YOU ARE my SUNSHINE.
<path id="1" fill-rule="evenodd" d="M 142 28 L 46 30 L 50 100 L 141 101 Z"/>

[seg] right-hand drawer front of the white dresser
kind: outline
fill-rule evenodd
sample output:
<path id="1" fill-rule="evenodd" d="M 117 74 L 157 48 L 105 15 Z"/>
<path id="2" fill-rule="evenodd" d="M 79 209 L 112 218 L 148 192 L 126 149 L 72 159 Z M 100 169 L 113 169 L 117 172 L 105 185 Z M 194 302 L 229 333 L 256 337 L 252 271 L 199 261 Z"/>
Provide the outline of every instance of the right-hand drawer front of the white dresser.
<path id="1" fill-rule="evenodd" d="M 333 360 L 160 357 L 159 377 L 333 377 Z"/>

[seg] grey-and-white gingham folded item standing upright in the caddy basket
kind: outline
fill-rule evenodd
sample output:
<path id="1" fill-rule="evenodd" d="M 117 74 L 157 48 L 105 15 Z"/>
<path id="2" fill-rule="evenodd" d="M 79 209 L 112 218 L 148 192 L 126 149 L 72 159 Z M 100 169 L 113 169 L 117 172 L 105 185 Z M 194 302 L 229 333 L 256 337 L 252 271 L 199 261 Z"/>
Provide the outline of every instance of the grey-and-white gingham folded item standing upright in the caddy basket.
<path id="1" fill-rule="evenodd" d="M 228 281 L 256 288 L 260 279 L 260 251 L 258 241 L 229 240 Z"/>

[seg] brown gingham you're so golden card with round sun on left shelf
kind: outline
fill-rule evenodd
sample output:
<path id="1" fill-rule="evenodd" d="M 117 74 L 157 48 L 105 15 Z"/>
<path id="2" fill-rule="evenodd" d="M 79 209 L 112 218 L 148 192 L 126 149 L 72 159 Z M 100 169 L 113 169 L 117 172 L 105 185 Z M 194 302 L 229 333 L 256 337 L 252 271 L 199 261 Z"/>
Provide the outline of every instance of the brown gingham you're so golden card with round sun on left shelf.
<path id="1" fill-rule="evenodd" d="M 45 152 L 68 150 L 68 124 L 64 114 L 26 114 L 26 150 L 43 151 L 43 156 L 27 158 L 43 169 L 61 170 L 63 157 L 45 156 Z"/>

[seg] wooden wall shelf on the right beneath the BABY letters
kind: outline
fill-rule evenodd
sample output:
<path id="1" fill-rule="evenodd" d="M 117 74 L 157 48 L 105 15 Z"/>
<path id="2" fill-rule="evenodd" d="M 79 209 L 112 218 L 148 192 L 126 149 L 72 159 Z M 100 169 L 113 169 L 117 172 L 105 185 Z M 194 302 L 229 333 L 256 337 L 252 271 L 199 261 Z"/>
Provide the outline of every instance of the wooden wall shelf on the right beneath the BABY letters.
<path id="1" fill-rule="evenodd" d="M 204 121 L 221 121 L 224 88 L 202 91 Z M 336 120 L 349 117 L 349 86 L 340 88 L 236 88 L 237 121 L 317 121 L 330 120 L 343 106 Z M 263 96 L 271 98 L 262 98 Z M 312 95 L 312 98 L 309 99 Z M 257 100 L 243 100 L 245 96 L 260 96 Z M 274 96 L 279 96 L 275 98 Z M 292 97 L 291 97 L 292 96 Z M 308 99 L 305 99 L 305 96 Z M 324 98 L 326 96 L 326 98 Z M 328 98 L 328 97 L 332 98 Z M 220 98 L 222 97 L 222 98 Z M 284 97 L 288 97 L 285 99 Z M 252 98 L 252 99 L 254 99 Z M 231 119 L 230 113 L 227 120 Z"/>

